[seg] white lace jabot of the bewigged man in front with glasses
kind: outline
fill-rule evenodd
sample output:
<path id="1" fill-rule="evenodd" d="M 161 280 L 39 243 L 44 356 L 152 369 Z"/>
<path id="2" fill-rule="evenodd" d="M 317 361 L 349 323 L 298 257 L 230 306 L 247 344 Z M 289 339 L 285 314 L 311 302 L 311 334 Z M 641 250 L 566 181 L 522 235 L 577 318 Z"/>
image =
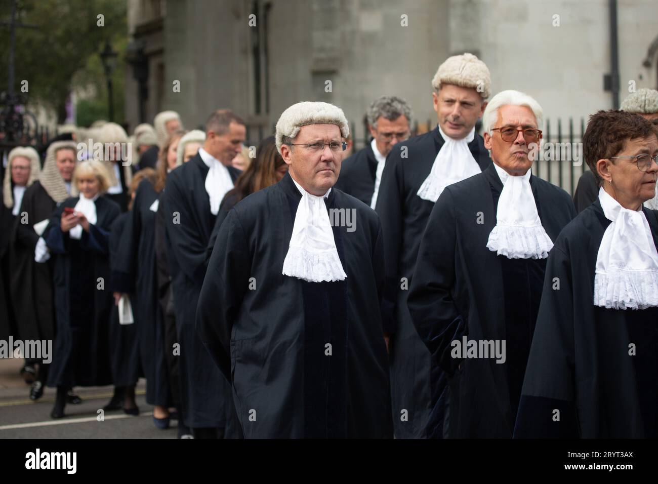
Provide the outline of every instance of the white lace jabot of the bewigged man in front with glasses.
<path id="1" fill-rule="evenodd" d="M 318 197 L 304 190 L 292 176 L 291 179 L 301 193 L 301 200 L 282 273 L 307 282 L 344 281 L 347 275 L 336 251 L 334 232 L 324 204 L 331 188 Z"/>

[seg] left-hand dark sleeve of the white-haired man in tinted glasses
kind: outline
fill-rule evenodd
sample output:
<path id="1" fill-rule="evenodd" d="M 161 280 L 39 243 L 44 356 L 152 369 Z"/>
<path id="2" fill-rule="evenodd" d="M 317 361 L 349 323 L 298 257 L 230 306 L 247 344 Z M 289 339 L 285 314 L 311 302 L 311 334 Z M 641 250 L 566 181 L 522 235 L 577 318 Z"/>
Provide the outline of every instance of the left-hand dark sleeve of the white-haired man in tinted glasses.
<path id="1" fill-rule="evenodd" d="M 454 205 L 451 192 L 443 190 L 420 241 L 407 298 L 418 336 L 448 375 L 453 375 L 461 363 L 461 358 L 451 357 L 451 342 L 468 334 L 467 321 L 452 298 L 457 240 Z"/>

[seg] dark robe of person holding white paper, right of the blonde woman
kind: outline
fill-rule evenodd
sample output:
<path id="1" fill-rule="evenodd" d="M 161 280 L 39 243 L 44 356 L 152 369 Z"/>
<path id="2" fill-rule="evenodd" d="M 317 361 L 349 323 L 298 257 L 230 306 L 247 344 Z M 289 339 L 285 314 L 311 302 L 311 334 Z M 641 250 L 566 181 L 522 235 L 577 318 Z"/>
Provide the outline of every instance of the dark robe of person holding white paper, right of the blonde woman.
<path id="1" fill-rule="evenodd" d="M 132 211 L 118 215 L 110 227 L 108 250 L 110 255 L 110 290 L 111 292 L 126 292 L 130 298 L 133 319 L 136 319 L 134 284 L 132 290 L 126 290 L 125 281 L 121 281 L 121 261 L 126 258 L 130 240 L 130 224 Z M 128 230 L 126 230 L 128 229 Z M 115 387 L 135 385 L 141 374 L 139 367 L 139 346 L 136 324 L 122 325 L 119 323 L 118 306 L 112 305 L 109 325 L 109 350 L 112 369 L 112 381 Z"/>

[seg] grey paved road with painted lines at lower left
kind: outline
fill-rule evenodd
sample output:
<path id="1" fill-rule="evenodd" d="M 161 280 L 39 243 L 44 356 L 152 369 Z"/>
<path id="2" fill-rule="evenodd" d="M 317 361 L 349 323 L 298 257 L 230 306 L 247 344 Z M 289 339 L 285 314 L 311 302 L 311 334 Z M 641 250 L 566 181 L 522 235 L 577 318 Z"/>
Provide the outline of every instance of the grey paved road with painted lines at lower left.
<path id="1" fill-rule="evenodd" d="M 112 396 L 112 387 L 76 388 L 83 402 L 66 405 L 63 419 L 51 419 L 55 389 L 46 388 L 32 402 L 30 385 L 19 375 L 22 360 L 0 360 L 0 439 L 176 439 L 176 422 L 167 430 L 153 425 L 153 407 L 144 400 L 145 381 L 139 380 L 136 400 L 141 413 L 126 416 L 122 410 L 106 412 L 99 421 L 97 411 Z"/>

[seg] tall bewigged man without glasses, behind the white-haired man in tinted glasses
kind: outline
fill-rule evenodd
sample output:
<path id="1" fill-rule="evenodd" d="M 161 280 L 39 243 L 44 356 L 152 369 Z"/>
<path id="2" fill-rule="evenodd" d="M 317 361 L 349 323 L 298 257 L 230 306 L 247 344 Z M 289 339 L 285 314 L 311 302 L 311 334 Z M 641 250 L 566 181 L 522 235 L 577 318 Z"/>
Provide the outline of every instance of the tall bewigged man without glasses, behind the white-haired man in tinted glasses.
<path id="1" fill-rule="evenodd" d="M 391 335 L 393 425 L 398 439 L 440 437 L 443 432 L 445 378 L 418 338 L 407 295 L 434 202 L 446 186 L 491 164 L 482 136 L 475 132 L 490 84 L 489 69 L 474 55 L 449 57 L 432 80 L 438 126 L 395 145 L 382 173 L 375 210 L 384 232 L 382 317 L 384 331 Z"/>

